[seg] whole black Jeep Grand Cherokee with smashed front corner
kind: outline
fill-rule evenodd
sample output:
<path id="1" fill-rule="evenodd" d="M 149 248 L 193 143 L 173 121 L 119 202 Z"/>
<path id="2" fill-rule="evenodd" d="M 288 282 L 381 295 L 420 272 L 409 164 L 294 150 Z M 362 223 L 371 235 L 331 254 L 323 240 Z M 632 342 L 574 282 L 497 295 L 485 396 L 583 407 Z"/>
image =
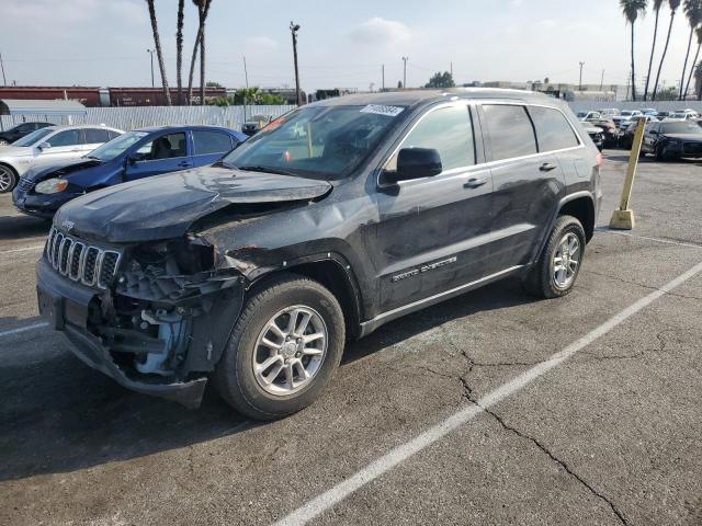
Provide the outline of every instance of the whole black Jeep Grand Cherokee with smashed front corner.
<path id="1" fill-rule="evenodd" d="M 41 311 L 127 388 L 196 407 L 212 379 L 239 411 L 280 418 L 321 393 L 349 338 L 511 275 L 568 294 L 599 163 L 539 94 L 327 100 L 213 167 L 60 208 Z"/>

